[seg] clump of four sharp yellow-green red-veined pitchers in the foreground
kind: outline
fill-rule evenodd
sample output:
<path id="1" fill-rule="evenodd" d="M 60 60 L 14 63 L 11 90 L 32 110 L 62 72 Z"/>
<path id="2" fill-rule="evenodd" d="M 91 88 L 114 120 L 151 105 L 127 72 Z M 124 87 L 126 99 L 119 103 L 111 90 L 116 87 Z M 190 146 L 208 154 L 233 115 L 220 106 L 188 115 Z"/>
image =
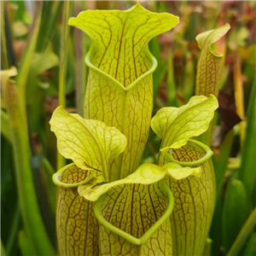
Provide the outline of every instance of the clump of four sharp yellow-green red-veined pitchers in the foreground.
<path id="1" fill-rule="evenodd" d="M 193 96 L 151 120 L 157 62 L 148 41 L 177 23 L 139 3 L 69 20 L 91 47 L 84 118 L 59 107 L 50 120 L 59 152 L 73 161 L 53 176 L 60 255 L 202 255 L 215 179 L 212 150 L 191 137 L 207 131 L 218 101 Z M 139 166 L 150 125 L 162 139 L 158 161 Z"/>

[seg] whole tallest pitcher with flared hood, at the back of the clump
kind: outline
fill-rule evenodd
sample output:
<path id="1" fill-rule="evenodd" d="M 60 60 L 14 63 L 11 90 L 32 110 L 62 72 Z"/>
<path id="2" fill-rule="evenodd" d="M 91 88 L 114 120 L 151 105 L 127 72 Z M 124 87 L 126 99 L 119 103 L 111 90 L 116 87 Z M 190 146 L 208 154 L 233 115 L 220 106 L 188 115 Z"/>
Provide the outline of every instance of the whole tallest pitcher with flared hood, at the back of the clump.
<path id="1" fill-rule="evenodd" d="M 139 165 L 148 139 L 157 66 L 148 41 L 177 23 L 177 16 L 149 12 L 139 3 L 126 11 L 87 10 L 69 20 L 92 41 L 85 58 L 90 73 L 84 117 L 113 125 L 127 137 L 125 152 L 111 164 L 110 181 L 128 176 Z"/>

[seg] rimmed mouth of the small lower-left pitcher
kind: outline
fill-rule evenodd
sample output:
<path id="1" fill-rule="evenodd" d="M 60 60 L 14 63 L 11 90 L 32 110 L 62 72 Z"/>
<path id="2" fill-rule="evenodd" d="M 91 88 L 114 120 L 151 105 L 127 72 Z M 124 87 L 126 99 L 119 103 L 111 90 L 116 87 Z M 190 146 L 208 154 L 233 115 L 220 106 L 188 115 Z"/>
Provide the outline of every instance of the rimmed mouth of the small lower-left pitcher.
<path id="1" fill-rule="evenodd" d="M 52 180 L 55 185 L 61 188 L 76 188 L 79 185 L 88 183 L 94 176 L 94 172 L 90 172 L 90 170 L 83 170 L 72 163 L 64 166 L 61 170 L 56 172 L 52 176 Z"/>

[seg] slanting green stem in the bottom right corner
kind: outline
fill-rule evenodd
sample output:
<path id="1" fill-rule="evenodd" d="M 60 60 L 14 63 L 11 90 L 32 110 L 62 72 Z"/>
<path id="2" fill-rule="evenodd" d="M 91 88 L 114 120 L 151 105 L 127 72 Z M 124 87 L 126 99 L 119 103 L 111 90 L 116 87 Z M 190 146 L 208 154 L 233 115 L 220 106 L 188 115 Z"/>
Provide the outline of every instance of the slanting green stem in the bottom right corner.
<path id="1" fill-rule="evenodd" d="M 251 235 L 255 224 L 256 224 L 256 208 L 254 208 L 249 218 L 247 218 L 247 222 L 241 228 L 239 235 L 236 237 L 236 241 L 233 243 L 229 253 L 227 253 L 226 256 L 238 255 L 238 253 L 241 250 L 241 247 L 244 245 L 245 241 L 247 241 L 248 236 Z"/>

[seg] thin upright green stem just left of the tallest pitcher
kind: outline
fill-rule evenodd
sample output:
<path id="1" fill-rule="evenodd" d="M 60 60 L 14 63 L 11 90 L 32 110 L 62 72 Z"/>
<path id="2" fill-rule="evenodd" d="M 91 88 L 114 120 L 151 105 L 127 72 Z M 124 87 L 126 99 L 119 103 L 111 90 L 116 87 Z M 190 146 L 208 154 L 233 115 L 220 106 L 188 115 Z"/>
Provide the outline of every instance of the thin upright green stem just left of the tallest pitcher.
<path id="1" fill-rule="evenodd" d="M 66 1 L 63 9 L 63 23 L 62 23 L 62 32 L 61 32 L 61 65 L 60 65 L 60 76 L 59 76 L 59 105 L 66 108 L 66 75 L 67 75 L 67 43 L 68 43 L 68 34 L 69 34 L 69 26 L 68 18 L 69 11 L 71 7 L 72 1 Z M 66 160 L 65 158 L 57 153 L 57 169 L 61 169 L 61 167 L 65 166 Z"/>

